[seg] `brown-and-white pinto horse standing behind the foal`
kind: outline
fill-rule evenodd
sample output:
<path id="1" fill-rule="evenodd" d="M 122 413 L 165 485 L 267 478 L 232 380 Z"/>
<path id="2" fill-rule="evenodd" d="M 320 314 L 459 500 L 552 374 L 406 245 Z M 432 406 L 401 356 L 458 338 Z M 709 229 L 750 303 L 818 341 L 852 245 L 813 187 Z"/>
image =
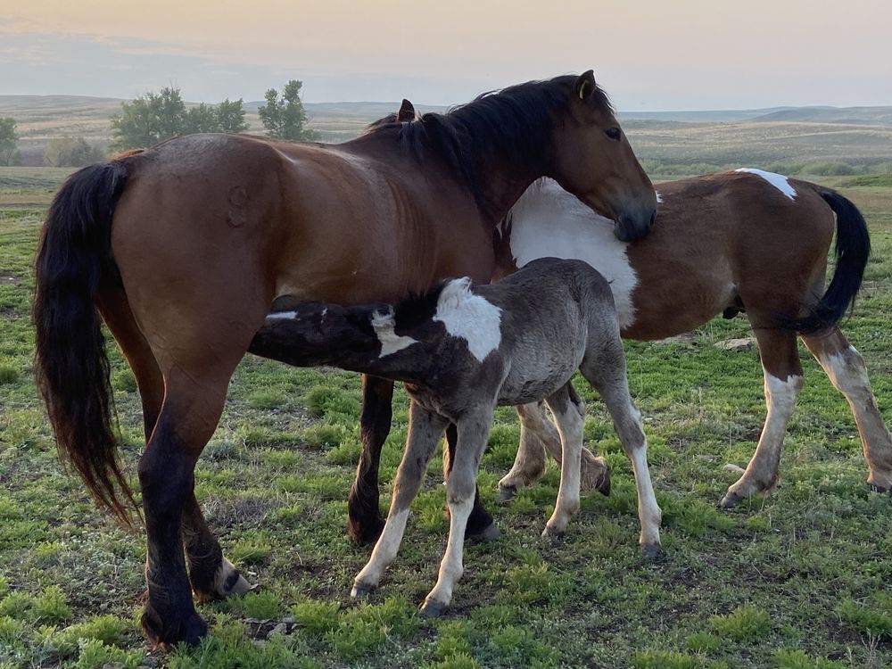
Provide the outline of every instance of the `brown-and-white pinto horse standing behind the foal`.
<path id="1" fill-rule="evenodd" d="M 802 387 L 797 335 L 847 398 L 871 488 L 892 489 L 892 438 L 863 359 L 837 325 L 861 285 L 870 252 L 867 227 L 855 205 L 823 186 L 757 169 L 682 179 L 660 184 L 658 190 L 659 225 L 628 244 L 611 233 L 611 221 L 601 220 L 599 226 L 597 214 L 553 183 L 534 184 L 500 224 L 493 278 L 542 256 L 586 260 L 610 280 L 623 336 L 630 339 L 663 339 L 717 314 L 730 318 L 745 311 L 762 357 L 768 415 L 756 453 L 728 489 L 723 507 L 768 493 L 778 482 L 780 446 Z M 834 231 L 837 266 L 824 293 Z M 374 406 L 363 398 L 364 420 L 371 414 L 367 407 Z M 520 448 L 514 467 L 500 481 L 501 500 L 541 477 L 546 450 L 560 458 L 558 434 L 541 407 L 518 407 L 518 413 Z M 373 478 L 366 468 L 376 461 L 387 428 L 378 424 L 368 434 L 380 441 L 363 442 L 354 483 L 354 490 L 366 496 Z M 602 458 L 583 451 L 583 482 L 609 481 L 608 475 Z M 354 535 L 374 534 L 382 523 L 380 516 L 360 514 L 358 506 L 348 509 Z M 478 500 L 469 528 L 490 521 Z"/>

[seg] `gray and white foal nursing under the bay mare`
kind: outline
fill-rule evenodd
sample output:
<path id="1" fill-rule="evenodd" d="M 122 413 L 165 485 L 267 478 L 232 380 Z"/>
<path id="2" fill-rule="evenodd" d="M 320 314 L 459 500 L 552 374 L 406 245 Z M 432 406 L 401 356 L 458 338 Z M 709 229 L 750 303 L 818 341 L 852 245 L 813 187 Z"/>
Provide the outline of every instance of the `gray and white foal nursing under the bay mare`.
<path id="1" fill-rule="evenodd" d="M 352 596 L 376 588 L 396 557 L 431 456 L 450 423 L 458 442 L 447 481 L 451 523 L 434 590 L 422 612 L 441 615 L 462 574 L 467 517 L 480 458 L 497 405 L 543 398 L 554 414 L 563 457 L 554 513 L 543 536 L 565 532 L 579 508 L 582 401 L 576 369 L 599 392 L 632 460 L 638 487 L 640 544 L 659 552 L 660 508 L 650 482 L 647 441 L 629 395 L 625 356 L 610 286 L 580 260 L 534 260 L 491 285 L 452 279 L 398 304 L 341 307 L 297 302 L 271 313 L 250 351 L 307 367 L 331 365 L 406 383 L 409 438 L 393 484 L 390 513 Z"/>

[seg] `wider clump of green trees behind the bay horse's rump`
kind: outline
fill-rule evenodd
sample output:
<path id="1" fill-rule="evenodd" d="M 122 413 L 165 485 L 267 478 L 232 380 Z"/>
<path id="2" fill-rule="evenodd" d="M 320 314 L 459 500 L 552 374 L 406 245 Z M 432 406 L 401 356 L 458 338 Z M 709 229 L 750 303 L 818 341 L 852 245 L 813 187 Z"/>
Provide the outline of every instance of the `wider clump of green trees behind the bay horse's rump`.
<path id="1" fill-rule="evenodd" d="M 112 148 L 152 146 L 177 135 L 196 132 L 244 132 L 242 98 L 228 98 L 218 105 L 201 103 L 186 109 L 179 88 L 161 88 L 161 93 L 146 93 L 128 103 L 121 103 L 121 113 L 111 117 Z"/>

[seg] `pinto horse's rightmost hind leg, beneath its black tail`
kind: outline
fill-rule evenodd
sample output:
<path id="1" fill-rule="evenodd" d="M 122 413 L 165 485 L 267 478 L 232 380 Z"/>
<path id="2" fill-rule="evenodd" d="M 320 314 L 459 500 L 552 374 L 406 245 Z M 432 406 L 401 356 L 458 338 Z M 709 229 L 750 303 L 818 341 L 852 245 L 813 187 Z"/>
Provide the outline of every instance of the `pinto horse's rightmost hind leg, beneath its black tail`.
<path id="1" fill-rule="evenodd" d="M 825 335 L 803 335 L 802 341 L 852 409 L 869 467 L 867 483 L 877 491 L 892 490 L 892 437 L 880 416 L 861 354 L 838 327 Z"/>

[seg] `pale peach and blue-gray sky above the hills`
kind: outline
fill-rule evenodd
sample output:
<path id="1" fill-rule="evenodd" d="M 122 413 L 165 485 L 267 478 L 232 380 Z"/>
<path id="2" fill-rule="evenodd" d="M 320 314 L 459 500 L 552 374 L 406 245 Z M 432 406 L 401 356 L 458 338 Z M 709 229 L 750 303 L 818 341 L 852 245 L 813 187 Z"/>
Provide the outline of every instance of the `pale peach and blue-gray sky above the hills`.
<path id="1" fill-rule="evenodd" d="M 892 0 L 0 4 L 0 95 L 453 104 L 590 68 L 622 111 L 892 105 Z"/>

